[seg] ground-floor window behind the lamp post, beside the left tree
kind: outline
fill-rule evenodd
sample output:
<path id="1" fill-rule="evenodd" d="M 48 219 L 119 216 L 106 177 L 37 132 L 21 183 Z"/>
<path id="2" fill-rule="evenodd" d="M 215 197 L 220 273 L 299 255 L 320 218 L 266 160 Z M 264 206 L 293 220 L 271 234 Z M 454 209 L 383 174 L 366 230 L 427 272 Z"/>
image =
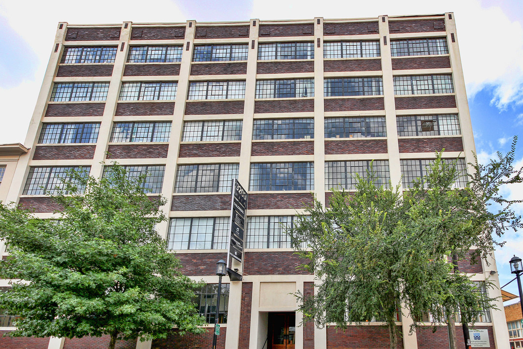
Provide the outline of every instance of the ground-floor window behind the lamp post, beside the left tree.
<path id="1" fill-rule="evenodd" d="M 207 323 L 215 323 L 216 303 L 218 300 L 218 284 L 207 284 L 196 292 L 195 302 L 198 312 Z M 220 309 L 218 310 L 218 323 L 227 323 L 229 310 L 229 284 L 222 284 L 220 290 Z"/>

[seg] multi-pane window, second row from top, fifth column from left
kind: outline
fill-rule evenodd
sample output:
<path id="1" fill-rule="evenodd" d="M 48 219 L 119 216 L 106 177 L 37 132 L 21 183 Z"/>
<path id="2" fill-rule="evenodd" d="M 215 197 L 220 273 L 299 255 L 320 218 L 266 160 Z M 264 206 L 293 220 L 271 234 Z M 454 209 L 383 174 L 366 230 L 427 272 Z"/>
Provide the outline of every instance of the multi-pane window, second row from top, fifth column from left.
<path id="1" fill-rule="evenodd" d="M 326 78 L 323 95 L 332 96 L 380 96 L 383 94 L 381 77 Z"/>

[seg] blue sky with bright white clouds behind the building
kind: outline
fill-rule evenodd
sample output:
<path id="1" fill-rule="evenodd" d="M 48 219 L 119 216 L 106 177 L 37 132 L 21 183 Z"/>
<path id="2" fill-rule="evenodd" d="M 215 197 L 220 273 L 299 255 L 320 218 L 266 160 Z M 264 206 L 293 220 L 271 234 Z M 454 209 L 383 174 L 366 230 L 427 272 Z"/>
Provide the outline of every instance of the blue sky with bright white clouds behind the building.
<path id="1" fill-rule="evenodd" d="M 101 9 L 101 10 L 100 10 Z M 360 18 L 453 12 L 478 157 L 506 153 L 520 136 L 523 166 L 523 2 L 521 0 L 0 0 L 0 143 L 25 142 L 29 120 L 53 49 L 59 21 L 69 24 L 234 21 L 257 18 Z M 523 199 L 523 185 L 503 188 Z M 515 206 L 523 215 L 523 204 Z M 512 279 L 508 261 L 523 257 L 523 231 L 506 232 L 496 251 L 501 285 Z M 516 282 L 504 288 L 517 294 Z M 508 303 L 506 303 L 508 304 Z"/>

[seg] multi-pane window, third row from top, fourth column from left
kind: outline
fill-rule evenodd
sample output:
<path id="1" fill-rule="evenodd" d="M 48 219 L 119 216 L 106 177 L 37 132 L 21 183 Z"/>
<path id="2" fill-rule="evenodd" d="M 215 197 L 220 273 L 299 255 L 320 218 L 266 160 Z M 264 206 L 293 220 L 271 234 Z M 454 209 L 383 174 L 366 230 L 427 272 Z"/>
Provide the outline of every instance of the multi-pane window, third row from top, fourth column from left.
<path id="1" fill-rule="evenodd" d="M 314 138 L 314 119 L 256 119 L 253 139 Z"/>

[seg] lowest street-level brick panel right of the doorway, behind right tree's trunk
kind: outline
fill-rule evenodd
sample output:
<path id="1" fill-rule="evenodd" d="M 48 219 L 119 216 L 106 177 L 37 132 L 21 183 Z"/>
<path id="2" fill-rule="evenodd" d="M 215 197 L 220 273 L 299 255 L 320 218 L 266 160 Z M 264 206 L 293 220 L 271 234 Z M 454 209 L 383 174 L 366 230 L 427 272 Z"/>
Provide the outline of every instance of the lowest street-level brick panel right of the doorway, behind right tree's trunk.
<path id="1" fill-rule="evenodd" d="M 398 334 L 396 348 L 403 349 L 401 326 L 396 326 L 396 330 Z M 427 336 L 430 337 L 428 334 Z M 346 330 L 337 329 L 334 326 L 327 326 L 327 349 L 382 349 L 388 348 L 389 346 L 389 329 L 386 326 L 349 325 Z M 445 346 L 440 346 L 438 349 L 444 347 Z M 425 346 L 419 346 L 419 348 L 428 349 L 428 347 Z"/>

